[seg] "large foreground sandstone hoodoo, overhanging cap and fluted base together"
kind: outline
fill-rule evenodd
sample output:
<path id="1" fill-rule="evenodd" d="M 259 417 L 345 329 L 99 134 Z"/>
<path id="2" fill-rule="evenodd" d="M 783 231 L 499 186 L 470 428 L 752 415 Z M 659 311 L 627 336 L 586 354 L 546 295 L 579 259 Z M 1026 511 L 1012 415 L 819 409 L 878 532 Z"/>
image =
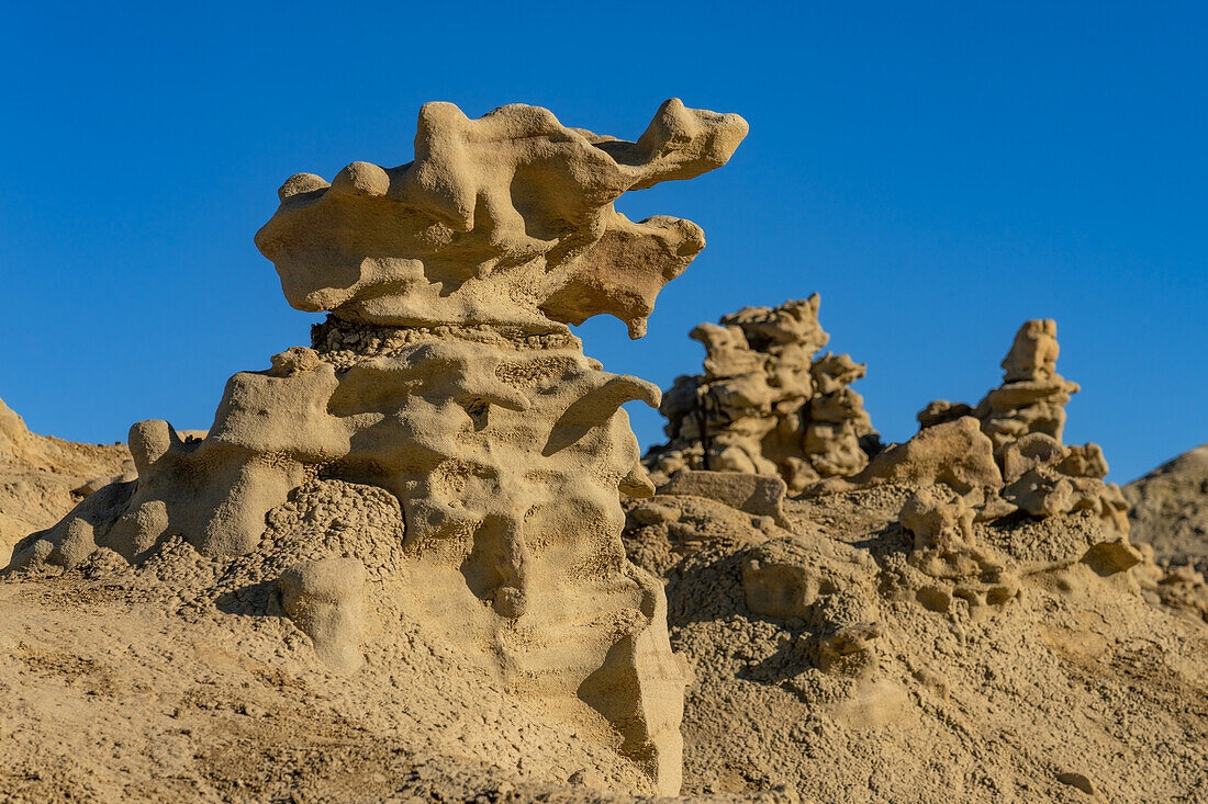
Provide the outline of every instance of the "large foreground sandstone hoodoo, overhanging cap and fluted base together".
<path id="1" fill-rule="evenodd" d="M 660 392 L 602 371 L 567 324 L 644 332 L 704 240 L 612 202 L 724 164 L 745 133 L 678 100 L 637 142 L 533 106 L 428 104 L 414 162 L 292 176 L 256 243 L 294 307 L 331 311 L 312 345 L 232 377 L 204 438 L 135 424 L 138 478 L 23 540 L 12 567 L 192 550 L 223 573 L 174 582 L 292 618 L 333 671 L 358 670 L 368 634 L 378 651 L 426 634 L 517 695 L 596 710 L 675 793 L 685 677 L 617 494 L 654 491 L 620 406 Z M 360 532 L 379 493 L 400 526 Z"/>

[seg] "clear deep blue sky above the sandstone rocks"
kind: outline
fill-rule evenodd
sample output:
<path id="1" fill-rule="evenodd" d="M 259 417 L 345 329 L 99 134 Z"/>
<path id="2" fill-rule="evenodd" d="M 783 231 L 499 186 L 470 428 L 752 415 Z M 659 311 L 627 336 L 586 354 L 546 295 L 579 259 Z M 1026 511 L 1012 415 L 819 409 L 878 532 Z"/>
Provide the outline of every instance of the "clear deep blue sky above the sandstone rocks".
<path id="1" fill-rule="evenodd" d="M 1055 317 L 1067 441 L 1125 482 L 1208 441 L 1201 2 L 5 4 L 0 397 L 31 427 L 207 427 L 226 378 L 308 343 L 252 233 L 297 171 L 412 157 L 416 112 L 506 103 L 635 138 L 736 111 L 731 163 L 627 196 L 709 245 L 611 371 L 699 368 L 698 321 L 818 291 L 887 439 L 976 402 Z M 632 407 L 632 406 L 631 406 Z M 652 412 L 633 412 L 644 444 Z"/>

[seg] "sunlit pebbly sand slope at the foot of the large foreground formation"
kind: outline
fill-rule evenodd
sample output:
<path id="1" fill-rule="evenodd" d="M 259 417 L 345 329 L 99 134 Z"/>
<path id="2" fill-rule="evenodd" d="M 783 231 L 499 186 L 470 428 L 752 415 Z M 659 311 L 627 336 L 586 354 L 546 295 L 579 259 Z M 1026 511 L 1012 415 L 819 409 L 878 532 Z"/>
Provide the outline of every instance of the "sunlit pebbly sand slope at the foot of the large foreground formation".
<path id="1" fill-rule="evenodd" d="M 366 557 L 373 534 L 401 529 L 397 505 L 372 489 L 308 494 L 326 518 L 281 512 L 271 554 L 335 530 Z M 331 529 L 337 515 L 365 535 Z M 331 672 L 289 618 L 238 614 L 255 605 L 246 572 L 176 540 L 141 567 L 99 555 L 0 584 L 0 790 L 23 802 L 353 802 L 506 798 L 571 777 L 647 788 L 588 706 L 518 698 L 416 623 L 374 642 L 355 676 Z M 198 594 L 207 585 L 227 592 Z"/>

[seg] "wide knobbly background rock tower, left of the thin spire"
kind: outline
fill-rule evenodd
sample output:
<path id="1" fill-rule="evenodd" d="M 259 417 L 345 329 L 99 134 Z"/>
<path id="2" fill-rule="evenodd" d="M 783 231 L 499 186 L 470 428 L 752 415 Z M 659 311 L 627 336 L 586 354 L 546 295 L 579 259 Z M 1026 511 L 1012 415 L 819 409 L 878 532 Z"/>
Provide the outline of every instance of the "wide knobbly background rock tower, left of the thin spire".
<path id="1" fill-rule="evenodd" d="M 681 468 L 779 474 L 790 491 L 854 474 L 878 445 L 864 398 L 848 388 L 865 367 L 826 353 L 817 293 L 776 308 L 748 307 L 702 324 L 704 374 L 663 396 L 670 441 L 645 464 L 656 483 Z"/>

